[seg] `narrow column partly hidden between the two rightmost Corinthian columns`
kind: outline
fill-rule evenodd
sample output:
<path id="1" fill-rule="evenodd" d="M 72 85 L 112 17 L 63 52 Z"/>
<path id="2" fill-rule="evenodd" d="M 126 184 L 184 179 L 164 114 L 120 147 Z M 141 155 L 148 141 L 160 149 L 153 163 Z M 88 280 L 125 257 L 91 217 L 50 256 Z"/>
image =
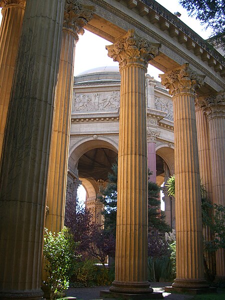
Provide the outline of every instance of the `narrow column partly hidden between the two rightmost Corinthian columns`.
<path id="1" fill-rule="evenodd" d="M 198 147 L 198 161 L 199 161 L 199 174 L 201 183 L 204 185 L 209 200 L 212 199 L 211 189 L 211 155 L 209 147 L 209 134 L 208 134 L 208 121 L 203 114 L 205 107 L 204 98 L 198 97 L 195 99 L 195 116 L 196 116 L 196 129 L 197 129 L 197 147 Z M 203 235 L 205 240 L 211 240 L 212 232 L 208 226 L 203 227 Z M 212 253 L 207 253 L 205 256 L 207 260 L 208 269 L 211 274 L 214 273 L 214 259 Z"/>

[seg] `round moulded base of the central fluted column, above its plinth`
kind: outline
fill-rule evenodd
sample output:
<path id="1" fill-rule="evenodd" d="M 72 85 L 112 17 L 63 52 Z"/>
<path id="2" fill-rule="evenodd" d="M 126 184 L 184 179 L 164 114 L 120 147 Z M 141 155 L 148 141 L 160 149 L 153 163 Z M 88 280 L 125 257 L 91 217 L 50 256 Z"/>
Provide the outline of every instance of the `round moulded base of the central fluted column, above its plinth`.
<path id="1" fill-rule="evenodd" d="M 138 293 L 151 293 L 153 288 L 150 287 L 148 281 L 144 282 L 122 282 L 114 280 L 112 286 L 109 287 L 111 292 L 118 293 L 129 293 L 129 294 L 138 294 Z"/>

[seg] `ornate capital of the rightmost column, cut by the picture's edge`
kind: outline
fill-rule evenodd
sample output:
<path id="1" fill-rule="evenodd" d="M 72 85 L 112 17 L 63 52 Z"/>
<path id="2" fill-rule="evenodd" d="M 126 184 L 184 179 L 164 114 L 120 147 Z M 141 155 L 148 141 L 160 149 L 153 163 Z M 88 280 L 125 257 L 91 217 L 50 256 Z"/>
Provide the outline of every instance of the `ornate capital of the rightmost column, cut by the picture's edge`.
<path id="1" fill-rule="evenodd" d="M 225 117 L 225 93 L 221 90 L 217 94 L 209 95 L 204 98 L 204 113 L 208 119 L 213 117 Z"/>

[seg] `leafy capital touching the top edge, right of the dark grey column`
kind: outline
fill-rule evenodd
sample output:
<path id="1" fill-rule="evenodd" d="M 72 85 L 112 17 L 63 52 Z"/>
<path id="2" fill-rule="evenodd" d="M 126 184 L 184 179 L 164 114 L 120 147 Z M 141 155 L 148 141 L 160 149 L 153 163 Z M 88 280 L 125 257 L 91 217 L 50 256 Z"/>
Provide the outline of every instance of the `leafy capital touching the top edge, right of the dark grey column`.
<path id="1" fill-rule="evenodd" d="M 94 6 L 80 4 L 76 0 L 65 0 L 63 30 L 68 30 L 75 35 L 83 34 L 83 27 L 93 17 Z"/>

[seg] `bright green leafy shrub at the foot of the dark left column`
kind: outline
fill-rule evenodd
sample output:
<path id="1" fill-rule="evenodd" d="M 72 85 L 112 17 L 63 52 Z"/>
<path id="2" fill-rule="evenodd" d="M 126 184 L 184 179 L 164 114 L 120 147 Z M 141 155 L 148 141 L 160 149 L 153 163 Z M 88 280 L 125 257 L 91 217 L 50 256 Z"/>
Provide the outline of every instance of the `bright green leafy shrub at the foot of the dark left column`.
<path id="1" fill-rule="evenodd" d="M 47 280 L 44 284 L 50 289 L 50 300 L 55 299 L 69 286 L 69 276 L 75 260 L 75 246 L 68 229 L 55 234 L 45 228 L 43 258 Z"/>

